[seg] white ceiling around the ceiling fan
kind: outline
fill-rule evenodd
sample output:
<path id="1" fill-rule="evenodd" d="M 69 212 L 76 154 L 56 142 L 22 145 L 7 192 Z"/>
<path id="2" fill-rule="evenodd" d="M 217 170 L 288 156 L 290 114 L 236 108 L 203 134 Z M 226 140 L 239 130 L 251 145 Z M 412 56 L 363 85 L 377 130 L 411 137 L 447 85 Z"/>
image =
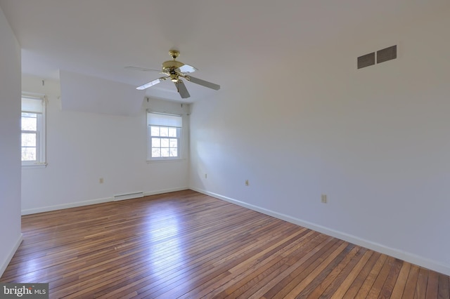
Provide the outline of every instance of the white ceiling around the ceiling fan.
<path id="1" fill-rule="evenodd" d="M 414 20 L 448 0 L 0 0 L 20 46 L 23 72 L 58 79 L 58 69 L 133 86 L 160 77 L 168 51 L 221 91 L 186 83 L 189 102 L 233 88 L 245 76 L 270 84 L 298 53 L 341 37 Z M 364 53 L 361 53 L 364 54 Z M 356 59 L 356 58 L 355 58 Z M 146 95 L 181 100 L 170 81 Z"/>

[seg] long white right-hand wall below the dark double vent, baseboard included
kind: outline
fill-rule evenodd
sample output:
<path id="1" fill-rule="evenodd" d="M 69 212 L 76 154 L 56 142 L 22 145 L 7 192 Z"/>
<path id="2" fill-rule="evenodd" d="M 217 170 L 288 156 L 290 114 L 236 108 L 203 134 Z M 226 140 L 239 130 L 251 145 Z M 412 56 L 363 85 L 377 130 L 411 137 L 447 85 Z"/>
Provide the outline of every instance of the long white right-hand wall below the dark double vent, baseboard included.
<path id="1" fill-rule="evenodd" d="M 292 49 L 195 102 L 191 187 L 450 274 L 449 27 L 443 11 Z"/>

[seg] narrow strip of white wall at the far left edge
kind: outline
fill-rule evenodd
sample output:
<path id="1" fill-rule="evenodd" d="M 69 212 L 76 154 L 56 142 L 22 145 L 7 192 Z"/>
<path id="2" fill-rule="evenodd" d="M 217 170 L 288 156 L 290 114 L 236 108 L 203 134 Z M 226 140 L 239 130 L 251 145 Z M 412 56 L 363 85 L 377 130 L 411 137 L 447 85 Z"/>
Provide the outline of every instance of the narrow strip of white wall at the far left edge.
<path id="1" fill-rule="evenodd" d="M 0 8 L 0 277 L 20 233 L 20 46 Z"/>

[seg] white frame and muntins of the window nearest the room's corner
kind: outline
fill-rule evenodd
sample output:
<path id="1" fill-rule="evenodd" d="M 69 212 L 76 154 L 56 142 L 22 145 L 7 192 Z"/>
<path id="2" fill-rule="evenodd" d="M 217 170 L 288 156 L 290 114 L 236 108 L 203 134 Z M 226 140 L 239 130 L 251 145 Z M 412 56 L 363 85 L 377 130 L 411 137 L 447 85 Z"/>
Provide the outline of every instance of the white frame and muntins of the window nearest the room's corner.
<path id="1" fill-rule="evenodd" d="M 179 117 L 180 119 L 180 125 L 181 126 L 171 126 L 169 124 L 150 124 L 150 115 L 149 114 L 155 114 L 155 115 L 159 115 L 159 116 L 167 116 L 167 117 Z M 147 161 L 179 161 L 184 159 L 184 155 L 183 155 L 183 142 L 184 142 L 184 138 L 183 138 L 183 116 L 181 114 L 169 114 L 169 113 L 165 113 L 165 112 L 155 112 L 155 111 L 147 111 Z M 152 135 L 152 131 L 151 131 L 151 127 L 159 127 L 159 128 L 175 128 L 176 129 L 176 137 L 171 137 L 171 136 L 161 136 L 161 135 Z M 153 148 L 158 148 L 158 147 L 153 147 L 153 138 L 158 138 L 158 139 L 176 139 L 177 140 L 177 156 L 176 157 L 152 157 L 152 150 Z M 161 147 L 159 146 L 159 148 L 167 148 L 170 149 L 170 147 Z"/>

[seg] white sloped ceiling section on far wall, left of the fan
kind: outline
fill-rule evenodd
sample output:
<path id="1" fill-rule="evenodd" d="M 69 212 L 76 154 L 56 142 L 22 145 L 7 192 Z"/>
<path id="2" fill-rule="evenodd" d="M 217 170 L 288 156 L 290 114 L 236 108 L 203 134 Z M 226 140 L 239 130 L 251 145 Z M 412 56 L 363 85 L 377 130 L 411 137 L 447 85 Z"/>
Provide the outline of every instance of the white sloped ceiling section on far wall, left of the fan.
<path id="1" fill-rule="evenodd" d="M 145 91 L 134 86 L 60 70 L 63 110 L 133 116 L 139 113 Z"/>

